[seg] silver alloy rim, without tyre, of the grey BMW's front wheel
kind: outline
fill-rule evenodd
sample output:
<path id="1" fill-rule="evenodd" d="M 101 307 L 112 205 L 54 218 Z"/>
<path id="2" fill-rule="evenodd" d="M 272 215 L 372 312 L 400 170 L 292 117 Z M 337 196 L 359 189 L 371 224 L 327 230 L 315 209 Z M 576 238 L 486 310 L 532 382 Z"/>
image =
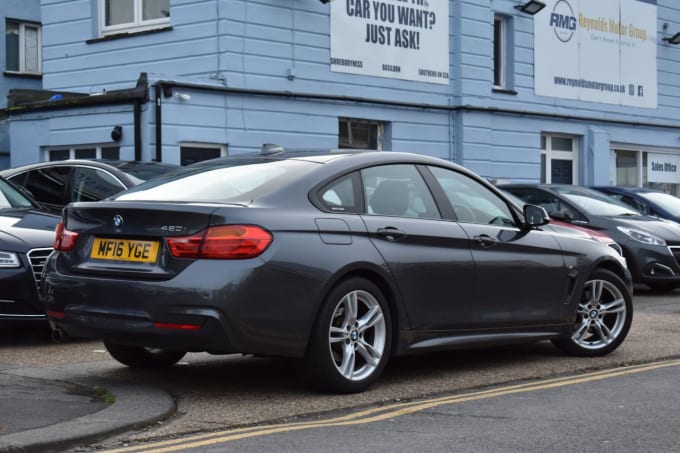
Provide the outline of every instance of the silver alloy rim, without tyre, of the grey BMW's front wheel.
<path id="1" fill-rule="evenodd" d="M 613 283 L 606 280 L 586 282 L 576 311 L 576 330 L 572 341 L 582 348 L 600 349 L 616 341 L 626 325 L 626 300 Z"/>

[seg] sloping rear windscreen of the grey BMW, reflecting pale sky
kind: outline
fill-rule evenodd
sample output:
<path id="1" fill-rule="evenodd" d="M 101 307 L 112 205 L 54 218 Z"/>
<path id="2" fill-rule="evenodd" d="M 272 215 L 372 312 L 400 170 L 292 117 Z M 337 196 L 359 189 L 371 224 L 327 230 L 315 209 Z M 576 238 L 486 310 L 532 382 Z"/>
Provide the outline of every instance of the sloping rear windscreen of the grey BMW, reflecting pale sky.
<path id="1" fill-rule="evenodd" d="M 319 164 L 279 160 L 247 165 L 184 167 L 115 196 L 116 200 L 249 203 L 280 190 Z"/>

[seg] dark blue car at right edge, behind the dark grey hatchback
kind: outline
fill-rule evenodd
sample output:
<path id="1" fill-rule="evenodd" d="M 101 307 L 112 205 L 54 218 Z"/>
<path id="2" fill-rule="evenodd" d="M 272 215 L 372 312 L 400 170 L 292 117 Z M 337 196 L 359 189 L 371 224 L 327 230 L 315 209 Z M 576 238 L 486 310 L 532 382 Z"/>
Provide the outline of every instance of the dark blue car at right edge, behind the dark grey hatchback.
<path id="1" fill-rule="evenodd" d="M 593 189 L 627 204 L 642 214 L 680 222 L 680 198 L 642 187 L 598 186 Z"/>

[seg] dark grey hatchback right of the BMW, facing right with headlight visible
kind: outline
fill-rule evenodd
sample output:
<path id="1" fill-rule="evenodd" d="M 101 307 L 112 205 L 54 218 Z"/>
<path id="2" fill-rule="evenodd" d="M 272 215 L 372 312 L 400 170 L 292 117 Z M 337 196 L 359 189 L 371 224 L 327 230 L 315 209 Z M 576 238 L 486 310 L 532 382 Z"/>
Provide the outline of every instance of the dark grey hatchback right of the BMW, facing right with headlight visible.
<path id="1" fill-rule="evenodd" d="M 602 192 L 569 185 L 500 186 L 551 217 L 606 232 L 622 248 L 633 280 L 655 289 L 680 286 L 680 225 L 642 215 Z"/>

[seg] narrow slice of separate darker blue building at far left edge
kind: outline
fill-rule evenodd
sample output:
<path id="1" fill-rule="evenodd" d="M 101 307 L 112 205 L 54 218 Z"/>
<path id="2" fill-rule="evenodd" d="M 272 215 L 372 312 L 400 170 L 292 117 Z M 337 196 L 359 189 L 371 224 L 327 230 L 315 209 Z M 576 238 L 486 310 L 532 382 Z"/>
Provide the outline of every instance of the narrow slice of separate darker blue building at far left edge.
<path id="1" fill-rule="evenodd" d="M 9 124 L 4 109 L 10 89 L 42 87 L 40 0 L 0 2 L 0 168 L 10 164 Z"/>

